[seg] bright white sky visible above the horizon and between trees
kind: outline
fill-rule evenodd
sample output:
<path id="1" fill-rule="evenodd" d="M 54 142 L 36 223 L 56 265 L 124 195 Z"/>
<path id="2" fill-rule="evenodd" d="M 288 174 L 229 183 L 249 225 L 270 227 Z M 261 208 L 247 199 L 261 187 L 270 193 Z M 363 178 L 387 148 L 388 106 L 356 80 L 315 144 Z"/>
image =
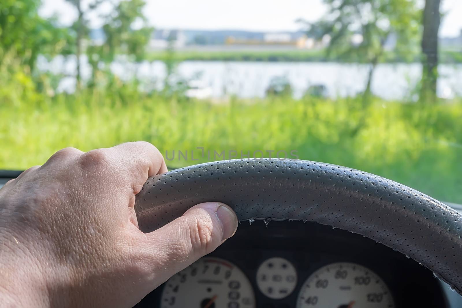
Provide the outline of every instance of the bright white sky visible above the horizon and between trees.
<path id="1" fill-rule="evenodd" d="M 85 6 L 90 0 L 82 2 Z M 315 21 L 325 12 L 322 0 L 146 0 L 146 3 L 144 12 L 149 23 L 166 29 L 293 31 L 301 28 L 297 19 Z M 458 36 L 462 29 L 462 0 L 442 0 L 441 11 L 445 16 L 439 35 Z M 77 18 L 77 12 L 65 0 L 43 0 L 39 13 L 44 17 L 56 14 L 64 25 Z M 94 28 L 101 24 L 98 14 L 90 16 Z"/>

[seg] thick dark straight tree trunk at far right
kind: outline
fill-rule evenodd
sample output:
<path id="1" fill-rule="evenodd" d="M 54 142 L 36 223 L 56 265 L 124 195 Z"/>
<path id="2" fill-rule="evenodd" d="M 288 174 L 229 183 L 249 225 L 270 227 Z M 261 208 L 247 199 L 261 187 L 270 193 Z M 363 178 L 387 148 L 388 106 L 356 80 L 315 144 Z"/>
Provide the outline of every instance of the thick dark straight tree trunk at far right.
<path id="1" fill-rule="evenodd" d="M 426 0 L 423 12 L 422 83 L 420 101 L 435 102 L 438 81 L 438 30 L 441 0 Z"/>

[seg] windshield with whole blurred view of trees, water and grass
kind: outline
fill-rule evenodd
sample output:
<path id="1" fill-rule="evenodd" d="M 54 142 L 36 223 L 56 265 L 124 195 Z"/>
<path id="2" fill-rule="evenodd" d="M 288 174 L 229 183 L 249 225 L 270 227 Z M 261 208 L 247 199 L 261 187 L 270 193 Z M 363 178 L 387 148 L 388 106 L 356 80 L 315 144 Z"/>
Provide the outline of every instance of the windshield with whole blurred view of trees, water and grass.
<path id="1" fill-rule="evenodd" d="M 460 0 L 0 2 L 0 169 L 156 145 L 334 163 L 462 204 Z"/>

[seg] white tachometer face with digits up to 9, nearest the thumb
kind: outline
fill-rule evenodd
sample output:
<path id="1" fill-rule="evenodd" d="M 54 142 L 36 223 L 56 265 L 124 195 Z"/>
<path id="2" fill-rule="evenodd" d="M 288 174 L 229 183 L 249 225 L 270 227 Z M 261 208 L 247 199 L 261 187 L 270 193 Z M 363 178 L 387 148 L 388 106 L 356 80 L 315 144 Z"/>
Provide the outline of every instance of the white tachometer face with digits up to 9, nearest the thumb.
<path id="1" fill-rule="evenodd" d="M 234 264 L 202 258 L 172 276 L 161 297 L 162 308 L 253 308 L 249 279 Z"/>

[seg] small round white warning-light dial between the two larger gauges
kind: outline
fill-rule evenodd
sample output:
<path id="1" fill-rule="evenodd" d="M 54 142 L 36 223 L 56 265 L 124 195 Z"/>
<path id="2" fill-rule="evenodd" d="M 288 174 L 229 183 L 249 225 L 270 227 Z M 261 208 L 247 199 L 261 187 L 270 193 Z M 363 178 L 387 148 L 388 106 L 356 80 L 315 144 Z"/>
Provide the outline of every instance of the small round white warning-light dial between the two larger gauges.
<path id="1" fill-rule="evenodd" d="M 258 267 L 257 285 L 261 293 L 269 298 L 284 298 L 295 289 L 297 272 L 289 260 L 270 258 Z"/>

